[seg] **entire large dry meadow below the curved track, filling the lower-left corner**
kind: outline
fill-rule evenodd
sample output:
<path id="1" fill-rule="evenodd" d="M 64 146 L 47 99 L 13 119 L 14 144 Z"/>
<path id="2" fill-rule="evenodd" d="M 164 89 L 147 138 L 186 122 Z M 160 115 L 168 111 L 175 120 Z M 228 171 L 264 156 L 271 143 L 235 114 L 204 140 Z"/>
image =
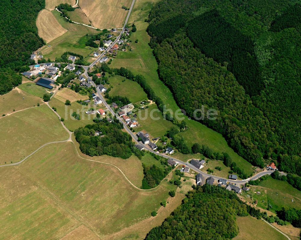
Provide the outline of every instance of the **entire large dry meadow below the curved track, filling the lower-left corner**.
<path id="1" fill-rule="evenodd" d="M 46 146 L 20 166 L 0 169 L 0 176 L 2 182 L 9 179 L 9 186 L 0 186 L 3 239 L 12 234 L 16 239 L 22 238 L 26 227 L 28 236 L 61 238 L 79 226 L 78 220 L 98 235 L 111 234 L 149 218 L 151 211 L 160 208 L 160 202 L 167 199 L 168 191 L 175 189 L 163 181 L 156 190 L 137 190 L 116 168 L 80 159 L 70 142 Z M 21 184 L 20 189 L 14 184 Z M 23 193 L 25 187 L 29 190 Z M 28 192 L 35 190 L 39 196 L 29 197 Z M 36 201 L 37 207 L 46 201 L 49 210 L 35 211 Z M 22 205 L 15 207 L 18 204 Z M 43 224 L 41 218 L 45 220 Z M 67 225 L 69 229 L 61 231 L 58 237 L 57 226 L 67 228 Z M 6 231 L 2 232 L 3 229 Z"/>

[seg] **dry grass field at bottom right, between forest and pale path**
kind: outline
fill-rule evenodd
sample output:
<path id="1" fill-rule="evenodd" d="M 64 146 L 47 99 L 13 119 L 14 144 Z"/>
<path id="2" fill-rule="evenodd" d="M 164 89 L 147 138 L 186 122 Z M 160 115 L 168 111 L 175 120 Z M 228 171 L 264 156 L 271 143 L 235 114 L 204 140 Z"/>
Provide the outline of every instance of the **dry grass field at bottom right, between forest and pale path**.
<path id="1" fill-rule="evenodd" d="M 239 228 L 238 235 L 233 240 L 287 240 L 287 238 L 262 220 L 254 217 L 236 217 Z"/>

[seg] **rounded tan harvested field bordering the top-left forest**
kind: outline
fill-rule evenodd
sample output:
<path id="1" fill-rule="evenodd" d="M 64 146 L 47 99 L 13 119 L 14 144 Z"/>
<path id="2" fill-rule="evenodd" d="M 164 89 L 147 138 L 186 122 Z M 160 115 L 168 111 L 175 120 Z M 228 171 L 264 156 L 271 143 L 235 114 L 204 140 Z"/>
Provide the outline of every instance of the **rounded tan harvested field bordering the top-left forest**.
<path id="1" fill-rule="evenodd" d="M 67 29 L 64 29 L 54 15 L 46 9 L 39 12 L 36 26 L 38 28 L 39 37 L 43 38 L 46 43 L 67 32 Z"/>

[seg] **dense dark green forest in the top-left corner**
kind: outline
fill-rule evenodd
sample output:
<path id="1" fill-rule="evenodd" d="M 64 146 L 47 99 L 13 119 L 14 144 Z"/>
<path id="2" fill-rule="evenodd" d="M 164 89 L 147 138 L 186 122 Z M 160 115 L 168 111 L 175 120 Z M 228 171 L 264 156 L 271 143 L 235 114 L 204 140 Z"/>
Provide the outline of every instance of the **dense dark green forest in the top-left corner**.
<path id="1" fill-rule="evenodd" d="M 0 1 L 0 94 L 21 83 L 14 71 L 29 70 L 30 54 L 42 47 L 36 18 L 43 8 L 43 0 Z"/>

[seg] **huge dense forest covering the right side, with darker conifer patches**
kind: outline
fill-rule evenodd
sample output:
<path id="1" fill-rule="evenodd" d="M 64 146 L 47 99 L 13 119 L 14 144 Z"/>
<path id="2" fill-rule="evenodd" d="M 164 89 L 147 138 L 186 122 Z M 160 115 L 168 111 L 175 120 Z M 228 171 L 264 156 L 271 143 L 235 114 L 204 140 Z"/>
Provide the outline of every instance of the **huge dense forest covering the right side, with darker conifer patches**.
<path id="1" fill-rule="evenodd" d="M 253 165 L 301 172 L 300 5 L 297 1 L 160 1 L 148 33 L 180 108 Z M 166 24 L 173 21 L 173 24 Z M 197 115 L 197 117 L 200 117 Z"/>

